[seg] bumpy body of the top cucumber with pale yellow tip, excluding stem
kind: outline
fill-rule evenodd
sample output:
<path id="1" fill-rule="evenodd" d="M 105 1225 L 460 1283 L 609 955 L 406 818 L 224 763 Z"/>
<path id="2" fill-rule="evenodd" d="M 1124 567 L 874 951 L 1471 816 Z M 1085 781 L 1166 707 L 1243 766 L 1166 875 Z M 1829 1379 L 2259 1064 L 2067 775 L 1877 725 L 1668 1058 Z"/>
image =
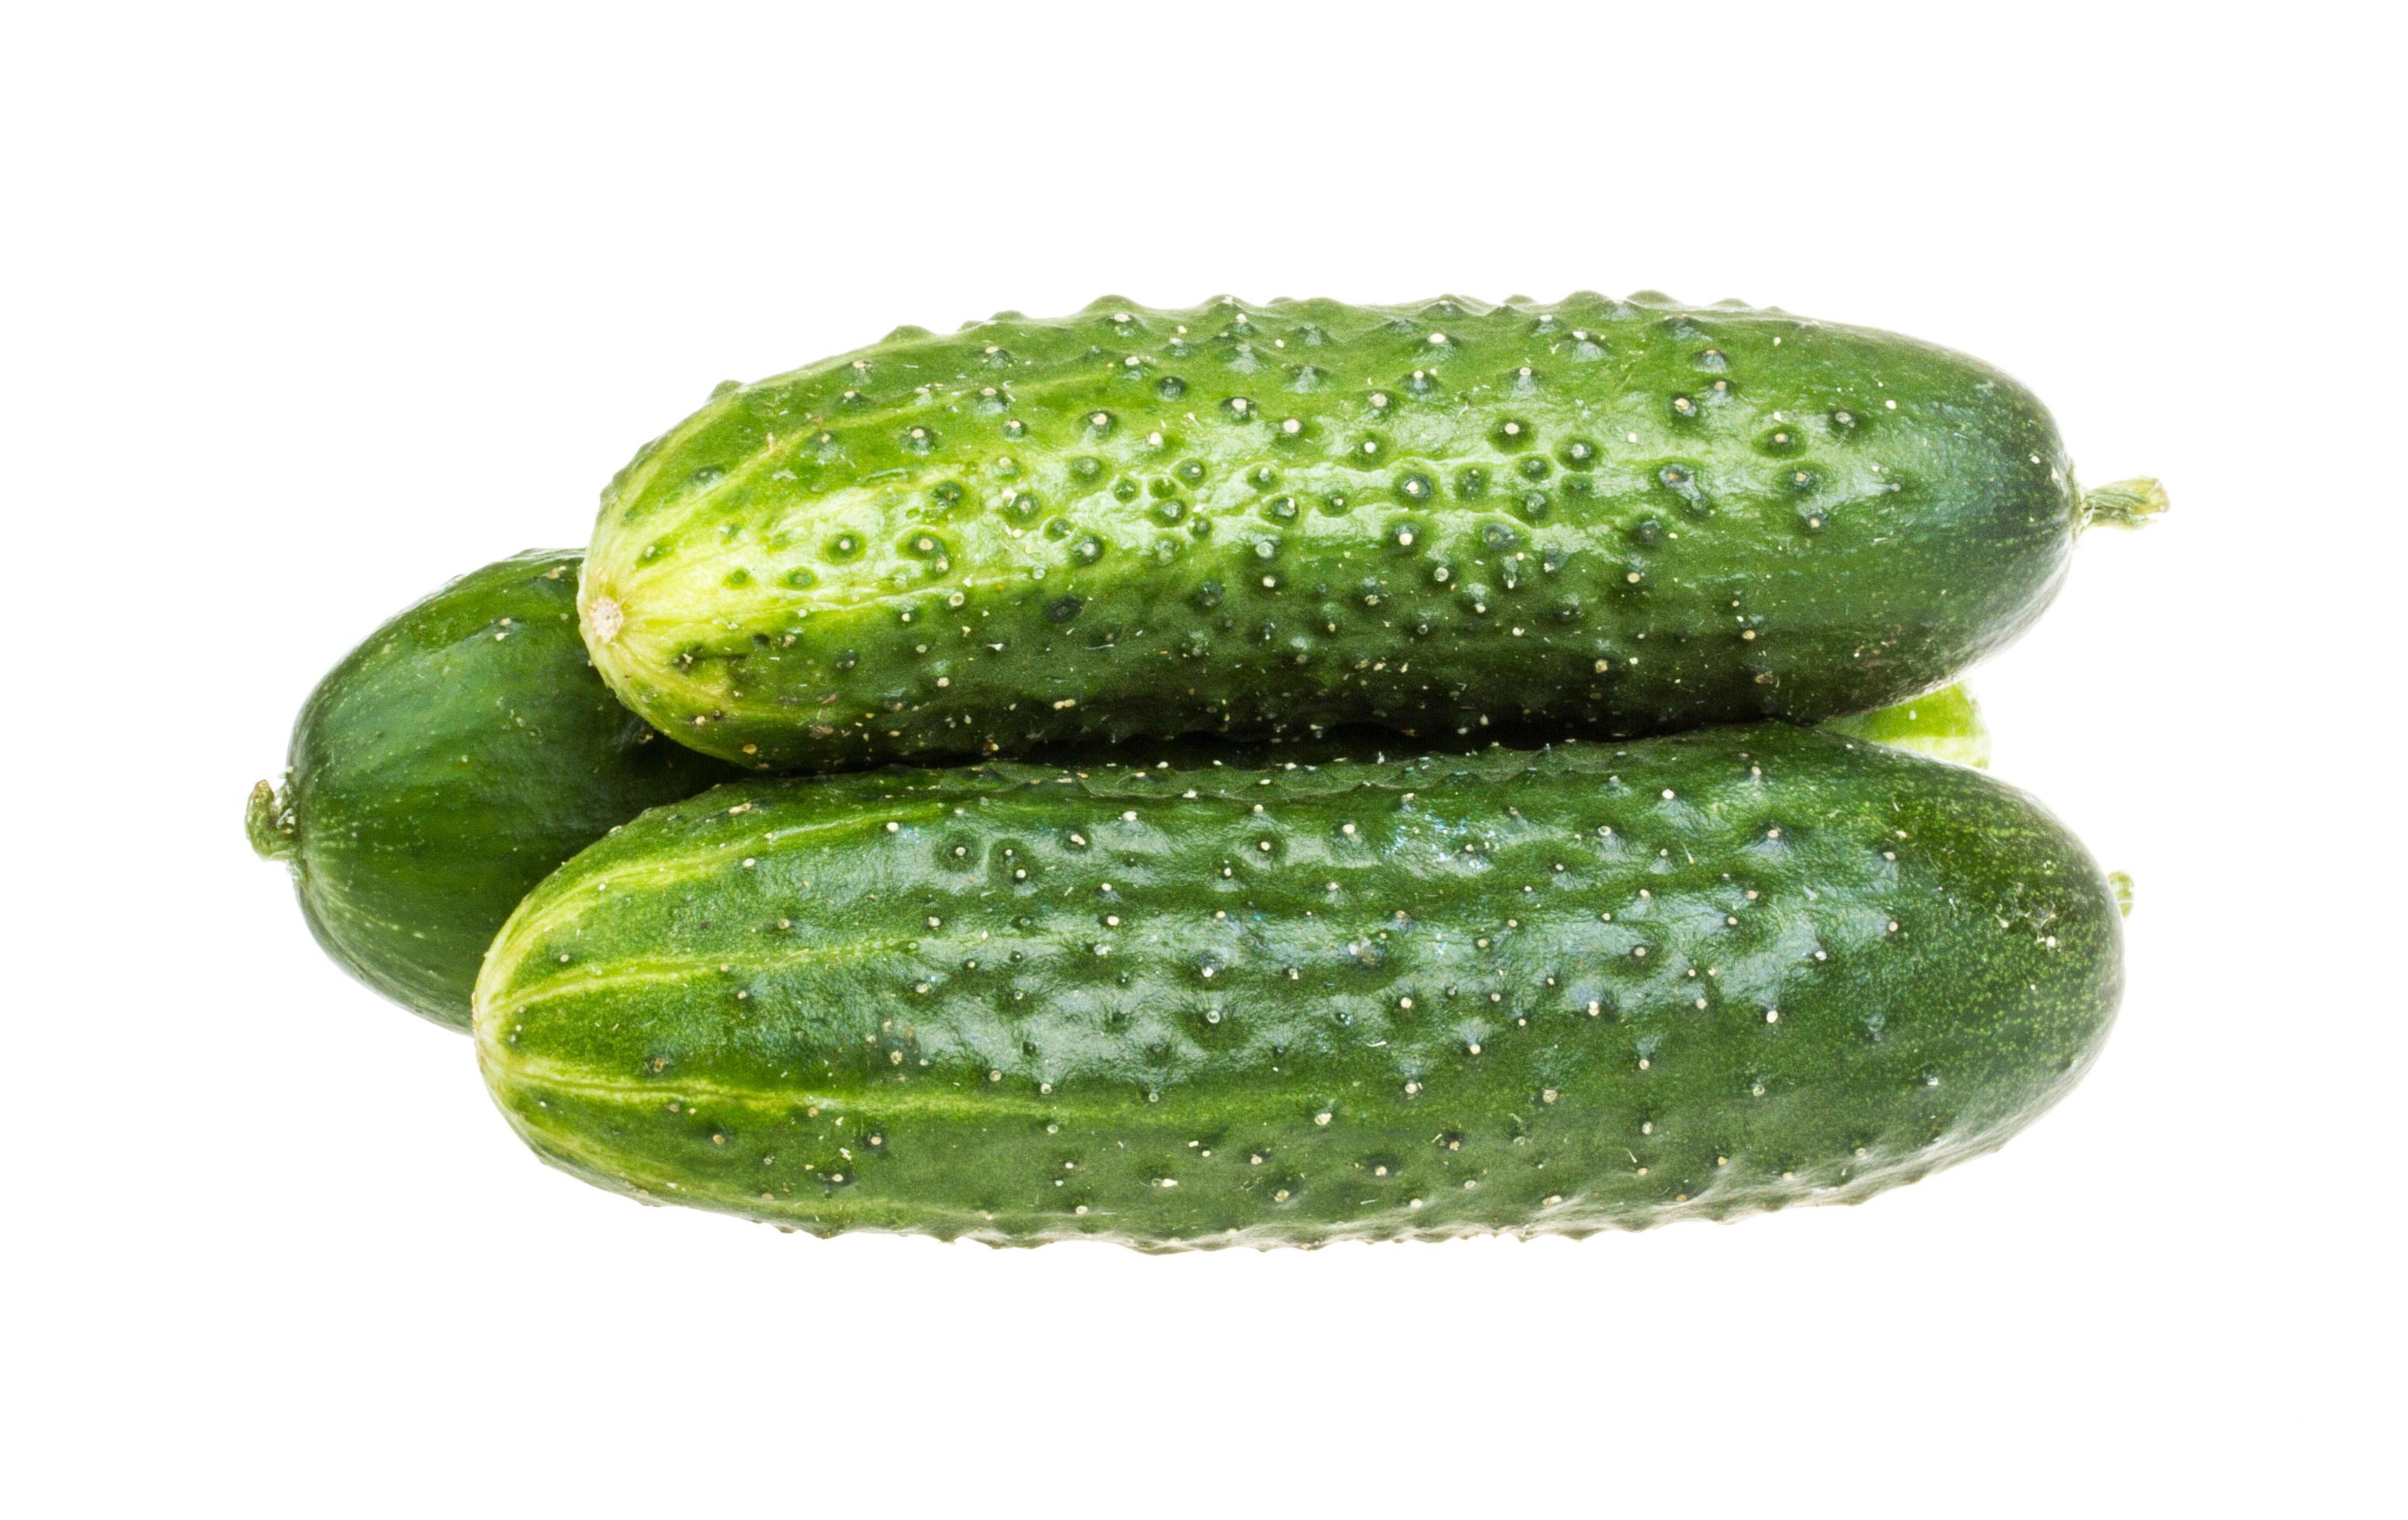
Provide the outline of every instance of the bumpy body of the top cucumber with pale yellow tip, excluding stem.
<path id="1" fill-rule="evenodd" d="M 2032 395 L 1885 332 L 1108 299 L 722 388 L 604 491 L 580 612 L 628 706 L 756 768 L 1625 737 L 1926 691 L 2081 523 Z"/>

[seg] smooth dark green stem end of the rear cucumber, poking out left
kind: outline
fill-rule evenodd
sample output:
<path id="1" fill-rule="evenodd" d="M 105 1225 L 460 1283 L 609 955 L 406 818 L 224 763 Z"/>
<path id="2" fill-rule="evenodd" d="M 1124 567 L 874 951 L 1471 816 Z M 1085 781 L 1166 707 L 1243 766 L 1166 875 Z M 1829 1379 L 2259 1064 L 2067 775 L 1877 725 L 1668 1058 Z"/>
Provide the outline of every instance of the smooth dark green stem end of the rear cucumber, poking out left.
<path id="1" fill-rule="evenodd" d="M 301 708 L 284 785 L 250 793 L 250 843 L 291 862 L 318 944 L 455 1029 L 530 886 L 645 807 L 732 776 L 592 672 L 578 559 L 530 549 L 388 621 Z"/>

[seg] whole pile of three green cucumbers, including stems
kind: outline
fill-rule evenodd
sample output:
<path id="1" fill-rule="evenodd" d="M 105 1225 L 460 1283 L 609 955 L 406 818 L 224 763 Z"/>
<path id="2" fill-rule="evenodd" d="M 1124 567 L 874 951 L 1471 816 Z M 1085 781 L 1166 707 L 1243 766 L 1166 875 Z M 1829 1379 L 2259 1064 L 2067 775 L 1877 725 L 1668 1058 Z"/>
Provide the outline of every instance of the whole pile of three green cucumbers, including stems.
<path id="1" fill-rule="evenodd" d="M 1780 311 L 901 328 L 371 634 L 248 826 L 648 1202 L 1146 1250 L 1857 1202 L 2097 1057 L 2124 886 L 1948 682 L 2162 508 Z"/>

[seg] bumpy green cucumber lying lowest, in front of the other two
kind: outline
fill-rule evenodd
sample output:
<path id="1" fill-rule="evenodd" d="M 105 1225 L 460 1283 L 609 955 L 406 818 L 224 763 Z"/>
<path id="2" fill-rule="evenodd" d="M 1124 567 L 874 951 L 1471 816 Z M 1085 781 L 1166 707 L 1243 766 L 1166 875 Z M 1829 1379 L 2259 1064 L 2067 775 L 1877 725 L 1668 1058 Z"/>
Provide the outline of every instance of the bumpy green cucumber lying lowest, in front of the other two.
<path id="1" fill-rule="evenodd" d="M 1317 1245 L 1857 1202 L 2054 1103 L 2119 990 L 2035 802 L 1753 725 L 734 783 L 527 896 L 477 1048 L 648 1202 Z"/>

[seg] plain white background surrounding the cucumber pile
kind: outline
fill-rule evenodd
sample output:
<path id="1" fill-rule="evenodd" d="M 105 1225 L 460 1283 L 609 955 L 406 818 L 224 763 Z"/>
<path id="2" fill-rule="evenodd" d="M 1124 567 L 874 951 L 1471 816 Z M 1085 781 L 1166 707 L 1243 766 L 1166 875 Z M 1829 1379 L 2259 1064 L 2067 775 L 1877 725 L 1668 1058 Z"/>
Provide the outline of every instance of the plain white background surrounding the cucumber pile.
<path id="1" fill-rule="evenodd" d="M 14 1513 L 2396 1503 L 2377 7 L 43 12 L 0 46 Z M 1105 291 L 1582 287 L 1970 349 L 2174 494 L 1977 674 L 1996 773 L 2138 877 L 2105 1062 L 1999 1156 L 1587 1243 L 787 1238 L 539 1166 L 243 846 L 354 638 L 580 544 L 715 381 Z"/>

